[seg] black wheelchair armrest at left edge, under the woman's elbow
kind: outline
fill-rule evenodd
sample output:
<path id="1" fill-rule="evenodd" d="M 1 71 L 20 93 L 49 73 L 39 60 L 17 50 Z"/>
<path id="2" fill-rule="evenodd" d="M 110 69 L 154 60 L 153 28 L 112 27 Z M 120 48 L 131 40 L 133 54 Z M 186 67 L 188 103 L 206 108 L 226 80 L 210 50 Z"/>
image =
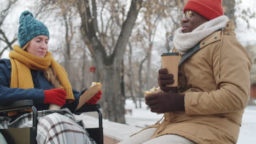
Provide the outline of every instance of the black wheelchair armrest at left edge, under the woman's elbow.
<path id="1" fill-rule="evenodd" d="M 0 105 L 0 112 L 26 109 L 33 106 L 33 100 L 14 101 L 7 105 Z"/>

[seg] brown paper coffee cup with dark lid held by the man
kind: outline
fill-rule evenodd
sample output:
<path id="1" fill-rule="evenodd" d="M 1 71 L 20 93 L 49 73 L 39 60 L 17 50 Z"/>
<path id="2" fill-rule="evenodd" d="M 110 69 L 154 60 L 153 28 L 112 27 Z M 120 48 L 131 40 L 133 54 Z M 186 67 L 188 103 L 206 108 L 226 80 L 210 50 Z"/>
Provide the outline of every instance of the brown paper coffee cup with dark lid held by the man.
<path id="1" fill-rule="evenodd" d="M 178 86 L 178 67 L 179 67 L 179 55 L 177 52 L 162 53 L 162 68 L 167 68 L 168 74 L 173 74 L 174 83 L 166 85 L 167 87 Z"/>

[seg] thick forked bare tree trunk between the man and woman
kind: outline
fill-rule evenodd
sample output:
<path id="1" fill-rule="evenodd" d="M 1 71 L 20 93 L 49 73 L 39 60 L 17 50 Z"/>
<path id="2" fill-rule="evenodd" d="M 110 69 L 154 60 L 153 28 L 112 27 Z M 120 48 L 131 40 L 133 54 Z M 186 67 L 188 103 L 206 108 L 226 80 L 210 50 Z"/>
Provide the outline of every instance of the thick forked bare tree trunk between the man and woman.
<path id="1" fill-rule="evenodd" d="M 118 3 L 117 3 L 118 4 Z M 82 20 L 83 40 L 88 45 L 92 57 L 96 62 L 96 67 L 101 71 L 101 81 L 103 83 L 103 113 L 104 118 L 110 121 L 125 123 L 124 103 L 125 98 L 121 93 L 121 65 L 124 58 L 126 44 L 135 25 L 142 0 L 132 0 L 129 12 L 125 21 L 121 25 L 121 31 L 113 51 L 108 52 L 100 37 L 98 37 L 97 5 L 92 0 L 91 5 L 88 0 L 78 1 L 78 10 Z M 92 14 L 91 14 L 92 9 Z M 112 15 L 114 16 L 114 15 Z M 107 54 L 109 53 L 109 55 Z"/>

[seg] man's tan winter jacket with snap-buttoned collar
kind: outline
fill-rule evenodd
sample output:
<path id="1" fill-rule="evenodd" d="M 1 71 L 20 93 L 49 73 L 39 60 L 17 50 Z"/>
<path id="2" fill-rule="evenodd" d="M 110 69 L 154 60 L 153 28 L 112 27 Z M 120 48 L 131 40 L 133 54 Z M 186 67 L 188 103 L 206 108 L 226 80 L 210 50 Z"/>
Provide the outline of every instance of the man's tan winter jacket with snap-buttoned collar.
<path id="1" fill-rule="evenodd" d="M 184 55 L 179 92 L 185 112 L 165 113 L 154 137 L 177 134 L 195 143 L 236 143 L 249 99 L 251 57 L 236 40 L 234 22 Z M 174 50 L 175 51 L 175 50 Z M 148 127 L 148 128 L 150 128 Z"/>

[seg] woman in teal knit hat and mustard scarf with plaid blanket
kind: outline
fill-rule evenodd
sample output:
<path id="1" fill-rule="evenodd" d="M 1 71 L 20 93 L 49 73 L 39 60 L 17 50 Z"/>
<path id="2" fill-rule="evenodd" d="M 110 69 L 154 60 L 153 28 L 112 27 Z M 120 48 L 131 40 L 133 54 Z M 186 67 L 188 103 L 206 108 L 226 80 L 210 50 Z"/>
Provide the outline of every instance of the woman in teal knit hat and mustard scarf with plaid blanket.
<path id="1" fill-rule="evenodd" d="M 66 71 L 48 52 L 48 28 L 30 11 L 21 14 L 19 23 L 20 46 L 13 46 L 10 59 L 0 59 L 0 104 L 33 100 L 38 110 L 37 143 L 95 143 L 71 112 L 84 91 L 72 89 Z M 86 103 L 96 104 L 101 93 Z M 48 110 L 49 104 L 62 109 Z M 31 117 L 27 111 L 9 112 L 0 127 L 31 127 Z"/>

